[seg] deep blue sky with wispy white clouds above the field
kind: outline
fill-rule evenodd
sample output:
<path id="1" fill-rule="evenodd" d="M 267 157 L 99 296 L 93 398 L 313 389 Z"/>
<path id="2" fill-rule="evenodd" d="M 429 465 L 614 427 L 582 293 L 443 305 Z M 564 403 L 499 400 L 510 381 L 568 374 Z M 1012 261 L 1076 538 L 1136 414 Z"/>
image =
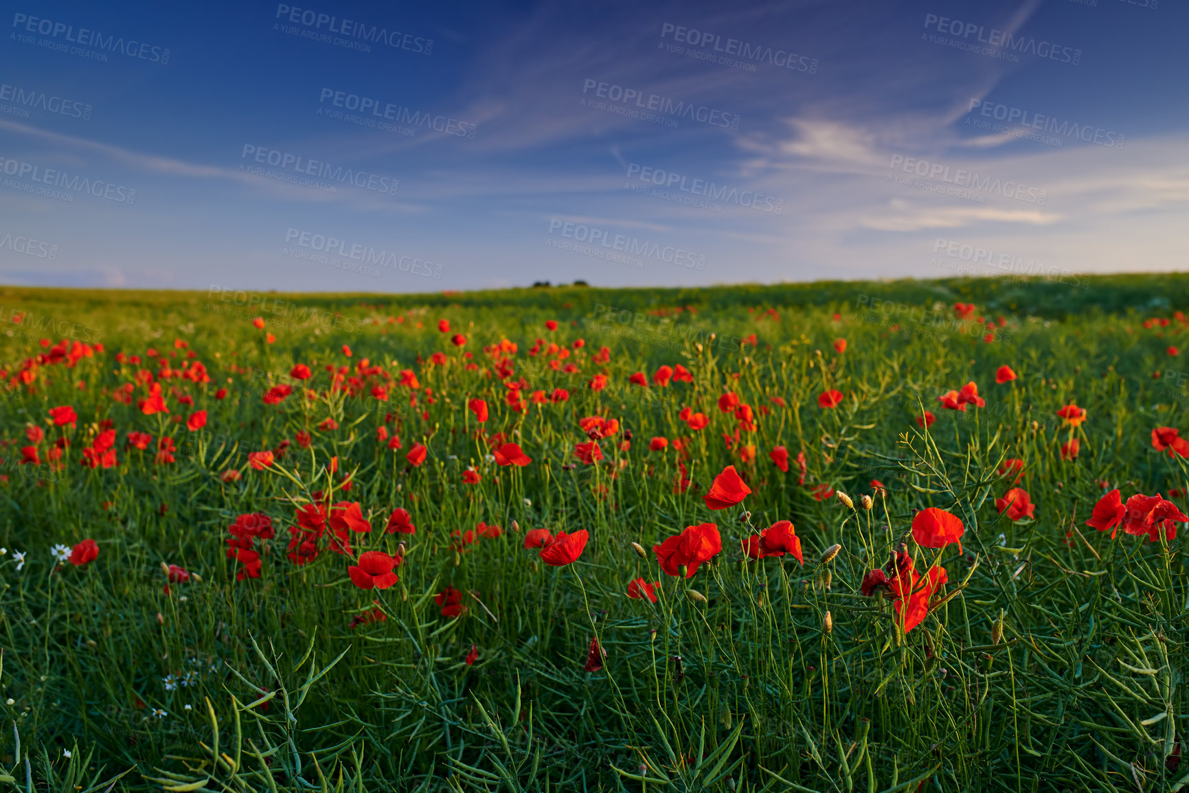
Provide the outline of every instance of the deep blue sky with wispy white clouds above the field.
<path id="1" fill-rule="evenodd" d="M 114 5 L 6 4 L 0 282 L 1182 266 L 1184 2 Z"/>

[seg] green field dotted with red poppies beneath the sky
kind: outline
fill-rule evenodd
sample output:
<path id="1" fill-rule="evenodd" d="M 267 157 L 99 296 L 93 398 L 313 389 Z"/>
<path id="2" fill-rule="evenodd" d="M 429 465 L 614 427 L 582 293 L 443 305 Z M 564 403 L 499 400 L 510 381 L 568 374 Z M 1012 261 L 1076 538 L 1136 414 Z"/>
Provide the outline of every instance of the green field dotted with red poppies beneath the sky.
<path id="1" fill-rule="evenodd" d="M 6 289 L 0 782 L 1179 789 L 1189 290 L 1087 283 Z"/>

